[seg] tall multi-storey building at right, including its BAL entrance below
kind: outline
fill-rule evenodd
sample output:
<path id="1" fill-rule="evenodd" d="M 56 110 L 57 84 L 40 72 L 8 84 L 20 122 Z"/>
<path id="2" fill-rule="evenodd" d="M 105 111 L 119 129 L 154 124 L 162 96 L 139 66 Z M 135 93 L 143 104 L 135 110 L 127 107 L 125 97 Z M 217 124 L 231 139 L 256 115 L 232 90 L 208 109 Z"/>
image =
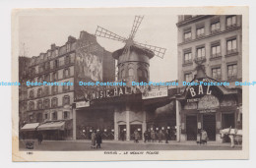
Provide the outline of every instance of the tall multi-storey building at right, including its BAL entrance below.
<path id="1" fill-rule="evenodd" d="M 242 16 L 178 16 L 178 81 L 228 82 L 180 86 L 180 140 L 197 140 L 202 129 L 223 141 L 220 130 L 241 129 Z"/>

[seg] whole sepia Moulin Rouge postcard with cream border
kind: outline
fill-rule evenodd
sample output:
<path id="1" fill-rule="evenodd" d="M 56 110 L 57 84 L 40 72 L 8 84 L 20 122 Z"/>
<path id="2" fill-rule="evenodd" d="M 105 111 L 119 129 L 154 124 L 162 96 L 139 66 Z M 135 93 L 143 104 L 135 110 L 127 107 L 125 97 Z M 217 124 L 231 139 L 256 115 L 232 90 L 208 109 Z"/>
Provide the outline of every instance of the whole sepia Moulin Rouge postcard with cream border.
<path id="1" fill-rule="evenodd" d="M 248 18 L 14 9 L 13 161 L 248 159 Z"/>

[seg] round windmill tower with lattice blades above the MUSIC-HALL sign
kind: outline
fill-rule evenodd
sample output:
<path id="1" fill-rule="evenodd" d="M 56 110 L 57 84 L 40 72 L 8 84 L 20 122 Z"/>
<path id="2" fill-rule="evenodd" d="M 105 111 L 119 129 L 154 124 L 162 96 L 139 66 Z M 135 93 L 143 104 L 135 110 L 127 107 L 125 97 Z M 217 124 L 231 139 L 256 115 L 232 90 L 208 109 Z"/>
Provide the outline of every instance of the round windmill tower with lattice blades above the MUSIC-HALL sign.
<path id="1" fill-rule="evenodd" d="M 135 34 L 140 27 L 143 16 L 135 16 L 133 27 L 128 38 L 117 35 L 105 28 L 97 27 L 96 36 L 117 40 L 125 43 L 125 46 L 112 53 L 117 60 L 117 81 L 123 81 L 127 85 L 132 82 L 148 83 L 150 81 L 150 59 L 158 56 L 161 59 L 165 53 L 165 48 L 143 44 L 134 41 Z"/>

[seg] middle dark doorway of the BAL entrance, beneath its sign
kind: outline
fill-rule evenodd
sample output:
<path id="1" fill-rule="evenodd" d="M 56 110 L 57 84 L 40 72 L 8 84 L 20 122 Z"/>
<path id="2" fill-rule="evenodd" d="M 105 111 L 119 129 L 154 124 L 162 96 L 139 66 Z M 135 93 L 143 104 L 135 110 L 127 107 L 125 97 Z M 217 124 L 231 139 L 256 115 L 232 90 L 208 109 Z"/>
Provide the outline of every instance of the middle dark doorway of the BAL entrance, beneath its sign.
<path id="1" fill-rule="evenodd" d="M 216 140 L 216 115 L 203 115 L 203 129 L 206 131 L 209 140 Z"/>

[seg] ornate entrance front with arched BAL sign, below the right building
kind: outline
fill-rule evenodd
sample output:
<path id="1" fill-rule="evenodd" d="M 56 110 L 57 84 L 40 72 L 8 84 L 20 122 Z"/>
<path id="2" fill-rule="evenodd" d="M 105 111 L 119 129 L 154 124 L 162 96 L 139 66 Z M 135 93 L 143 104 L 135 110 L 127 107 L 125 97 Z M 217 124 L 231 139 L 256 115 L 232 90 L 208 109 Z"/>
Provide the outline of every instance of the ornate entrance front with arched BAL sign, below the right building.
<path id="1" fill-rule="evenodd" d="M 198 85 L 187 86 L 177 96 L 180 140 L 199 140 L 201 130 L 205 130 L 210 141 L 223 142 L 220 130 L 241 129 L 241 89 L 200 82 L 217 81 L 207 77 L 195 79 L 192 83 Z"/>

